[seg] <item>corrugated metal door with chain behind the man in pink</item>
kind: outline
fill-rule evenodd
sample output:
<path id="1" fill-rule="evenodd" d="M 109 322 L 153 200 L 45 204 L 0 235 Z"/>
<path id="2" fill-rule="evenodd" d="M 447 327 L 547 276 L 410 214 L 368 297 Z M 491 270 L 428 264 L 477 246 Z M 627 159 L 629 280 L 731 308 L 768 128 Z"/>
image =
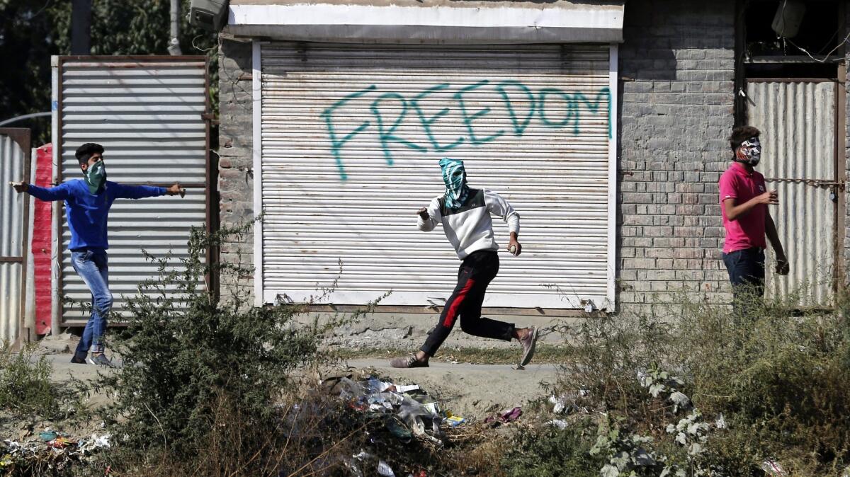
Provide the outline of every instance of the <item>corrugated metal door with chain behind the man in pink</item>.
<path id="1" fill-rule="evenodd" d="M 836 250 L 836 204 L 830 188 L 806 182 L 834 181 L 836 141 L 835 84 L 831 82 L 754 82 L 748 95 L 750 124 L 762 131 L 762 165 L 768 188 L 779 192 L 770 213 L 791 265 L 787 277 L 774 274 L 775 256 L 768 245 L 768 297 L 800 294 L 801 306 L 832 301 Z"/>

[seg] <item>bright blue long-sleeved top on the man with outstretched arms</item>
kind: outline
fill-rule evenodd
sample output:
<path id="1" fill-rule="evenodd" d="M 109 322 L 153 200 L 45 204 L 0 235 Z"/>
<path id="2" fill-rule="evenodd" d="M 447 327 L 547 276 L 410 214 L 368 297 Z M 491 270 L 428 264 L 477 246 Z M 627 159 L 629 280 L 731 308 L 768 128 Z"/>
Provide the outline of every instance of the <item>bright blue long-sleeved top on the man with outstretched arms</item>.
<path id="1" fill-rule="evenodd" d="M 68 228 L 71 229 L 71 250 L 109 248 L 106 238 L 106 222 L 115 199 L 143 199 L 165 195 L 166 188 L 151 186 L 129 186 L 106 181 L 99 194 L 88 192 L 82 179 L 62 182 L 54 188 L 41 188 L 29 184 L 27 192 L 36 199 L 45 201 L 65 200 Z"/>

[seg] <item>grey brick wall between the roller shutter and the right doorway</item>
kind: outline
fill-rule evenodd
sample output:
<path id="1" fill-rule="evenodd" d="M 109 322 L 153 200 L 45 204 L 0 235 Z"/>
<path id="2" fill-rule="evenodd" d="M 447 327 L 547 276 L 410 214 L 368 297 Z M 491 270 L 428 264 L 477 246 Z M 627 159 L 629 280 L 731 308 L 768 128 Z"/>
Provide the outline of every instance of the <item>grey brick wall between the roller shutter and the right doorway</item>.
<path id="1" fill-rule="evenodd" d="M 731 300 L 717 180 L 734 126 L 734 1 L 626 3 L 618 305 Z"/>

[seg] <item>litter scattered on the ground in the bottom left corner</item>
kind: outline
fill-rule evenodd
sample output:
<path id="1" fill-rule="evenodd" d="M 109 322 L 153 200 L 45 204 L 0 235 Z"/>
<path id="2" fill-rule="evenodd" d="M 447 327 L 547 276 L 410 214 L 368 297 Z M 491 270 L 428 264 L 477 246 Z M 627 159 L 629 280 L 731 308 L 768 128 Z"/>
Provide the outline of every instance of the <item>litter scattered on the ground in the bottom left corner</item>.
<path id="1" fill-rule="evenodd" d="M 0 473 L 15 469 L 62 470 L 72 463 L 86 462 L 94 453 L 111 447 L 111 434 L 92 434 L 88 439 L 44 429 L 25 442 L 5 440 L 0 444 Z"/>

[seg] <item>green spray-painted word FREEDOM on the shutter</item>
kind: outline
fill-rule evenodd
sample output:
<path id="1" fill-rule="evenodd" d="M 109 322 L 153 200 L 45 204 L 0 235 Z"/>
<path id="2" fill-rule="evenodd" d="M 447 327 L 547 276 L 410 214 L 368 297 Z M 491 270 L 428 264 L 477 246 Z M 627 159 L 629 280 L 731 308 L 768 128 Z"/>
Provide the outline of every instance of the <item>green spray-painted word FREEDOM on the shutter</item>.
<path id="1" fill-rule="evenodd" d="M 484 116 L 492 112 L 490 106 L 480 107 L 477 104 L 482 96 L 493 95 L 487 104 L 503 107 L 507 110 L 509 122 L 505 127 L 483 132 Z M 340 177 L 346 178 L 343 155 L 346 144 L 354 137 L 370 130 L 377 135 L 382 153 L 387 164 L 394 164 L 393 150 L 406 148 L 421 153 L 428 151 L 443 153 L 455 149 L 462 144 L 478 146 L 491 143 L 506 135 L 522 137 L 533 121 L 551 130 L 563 129 L 573 135 L 581 134 L 579 124 L 582 110 L 594 115 L 607 114 L 608 134 L 610 137 L 610 93 L 608 87 L 599 89 L 588 98 L 583 93 L 565 92 L 555 87 L 542 87 L 536 91 L 514 80 L 488 81 L 452 87 L 450 83 L 440 83 L 428 87 L 420 93 L 405 97 L 400 93 L 381 92 L 376 85 L 365 87 L 360 91 L 348 94 L 331 107 L 322 112 L 322 119 L 327 126 L 331 143 L 331 154 L 337 161 Z M 363 121 L 350 131 L 339 130 L 339 116 L 347 109 L 356 107 L 363 111 L 361 104 L 367 104 L 368 112 Z M 433 104 L 442 108 L 434 109 Z M 462 126 L 456 137 L 450 141 L 440 142 L 435 126 L 447 121 L 444 118 L 450 109 L 456 111 Z M 415 121 L 421 134 L 411 137 L 408 133 L 403 137 L 399 126 L 406 121 Z"/>

